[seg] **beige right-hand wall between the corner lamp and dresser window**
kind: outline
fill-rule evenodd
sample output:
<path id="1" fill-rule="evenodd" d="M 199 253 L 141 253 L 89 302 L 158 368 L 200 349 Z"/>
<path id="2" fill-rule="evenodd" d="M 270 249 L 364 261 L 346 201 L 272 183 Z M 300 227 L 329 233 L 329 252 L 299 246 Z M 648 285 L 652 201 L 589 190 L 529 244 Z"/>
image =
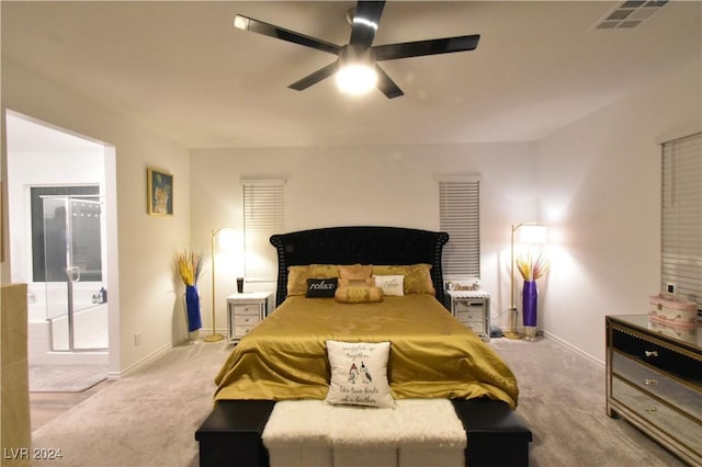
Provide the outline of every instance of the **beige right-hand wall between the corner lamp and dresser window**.
<path id="1" fill-rule="evenodd" d="M 604 360 L 604 316 L 645 314 L 660 283 L 660 147 L 702 128 L 699 60 L 539 145 L 553 267 L 544 329 Z"/>

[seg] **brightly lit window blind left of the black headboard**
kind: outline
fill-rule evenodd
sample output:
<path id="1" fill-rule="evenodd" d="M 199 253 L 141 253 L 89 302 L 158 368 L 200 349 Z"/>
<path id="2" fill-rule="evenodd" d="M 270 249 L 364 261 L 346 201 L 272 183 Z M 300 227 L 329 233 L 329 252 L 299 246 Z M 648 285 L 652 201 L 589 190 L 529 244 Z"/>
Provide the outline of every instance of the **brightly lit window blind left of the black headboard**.
<path id="1" fill-rule="evenodd" d="M 245 180 L 244 248 L 247 281 L 274 281 L 278 274 L 273 234 L 283 231 L 282 180 Z"/>

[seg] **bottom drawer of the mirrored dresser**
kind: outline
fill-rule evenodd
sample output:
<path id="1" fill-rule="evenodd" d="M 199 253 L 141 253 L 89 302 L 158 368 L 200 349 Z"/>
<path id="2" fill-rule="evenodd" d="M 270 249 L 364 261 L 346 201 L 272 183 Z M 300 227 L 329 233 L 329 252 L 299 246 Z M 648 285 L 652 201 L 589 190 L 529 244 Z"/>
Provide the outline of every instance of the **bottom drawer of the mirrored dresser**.
<path id="1" fill-rule="evenodd" d="M 624 383 L 619 377 L 612 377 L 612 399 L 625 406 L 629 410 L 655 429 L 666 433 L 677 444 L 702 455 L 702 423 L 693 421 L 665 403 L 648 397 L 635 387 Z"/>

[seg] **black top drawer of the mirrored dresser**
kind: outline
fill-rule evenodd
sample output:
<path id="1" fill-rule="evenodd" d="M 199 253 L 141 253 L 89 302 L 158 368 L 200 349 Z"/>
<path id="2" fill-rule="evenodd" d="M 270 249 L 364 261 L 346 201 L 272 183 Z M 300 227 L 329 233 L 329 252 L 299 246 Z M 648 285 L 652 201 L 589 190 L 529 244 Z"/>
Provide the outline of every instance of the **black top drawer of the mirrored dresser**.
<path id="1" fill-rule="evenodd" d="M 634 361 L 660 368 L 702 389 L 702 360 L 620 329 L 612 332 L 612 348 Z"/>

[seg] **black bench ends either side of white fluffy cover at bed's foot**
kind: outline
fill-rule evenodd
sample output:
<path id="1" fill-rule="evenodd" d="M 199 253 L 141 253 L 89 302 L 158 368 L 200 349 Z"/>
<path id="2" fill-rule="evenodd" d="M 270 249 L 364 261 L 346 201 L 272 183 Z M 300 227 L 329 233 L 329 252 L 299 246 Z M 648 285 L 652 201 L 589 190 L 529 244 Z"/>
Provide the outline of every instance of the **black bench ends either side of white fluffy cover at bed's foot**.
<path id="1" fill-rule="evenodd" d="M 529 466 L 531 431 L 507 403 L 485 399 L 452 403 L 467 434 L 466 466 Z M 268 467 L 261 435 L 274 405 L 270 400 L 216 402 L 195 432 L 200 466 Z"/>

